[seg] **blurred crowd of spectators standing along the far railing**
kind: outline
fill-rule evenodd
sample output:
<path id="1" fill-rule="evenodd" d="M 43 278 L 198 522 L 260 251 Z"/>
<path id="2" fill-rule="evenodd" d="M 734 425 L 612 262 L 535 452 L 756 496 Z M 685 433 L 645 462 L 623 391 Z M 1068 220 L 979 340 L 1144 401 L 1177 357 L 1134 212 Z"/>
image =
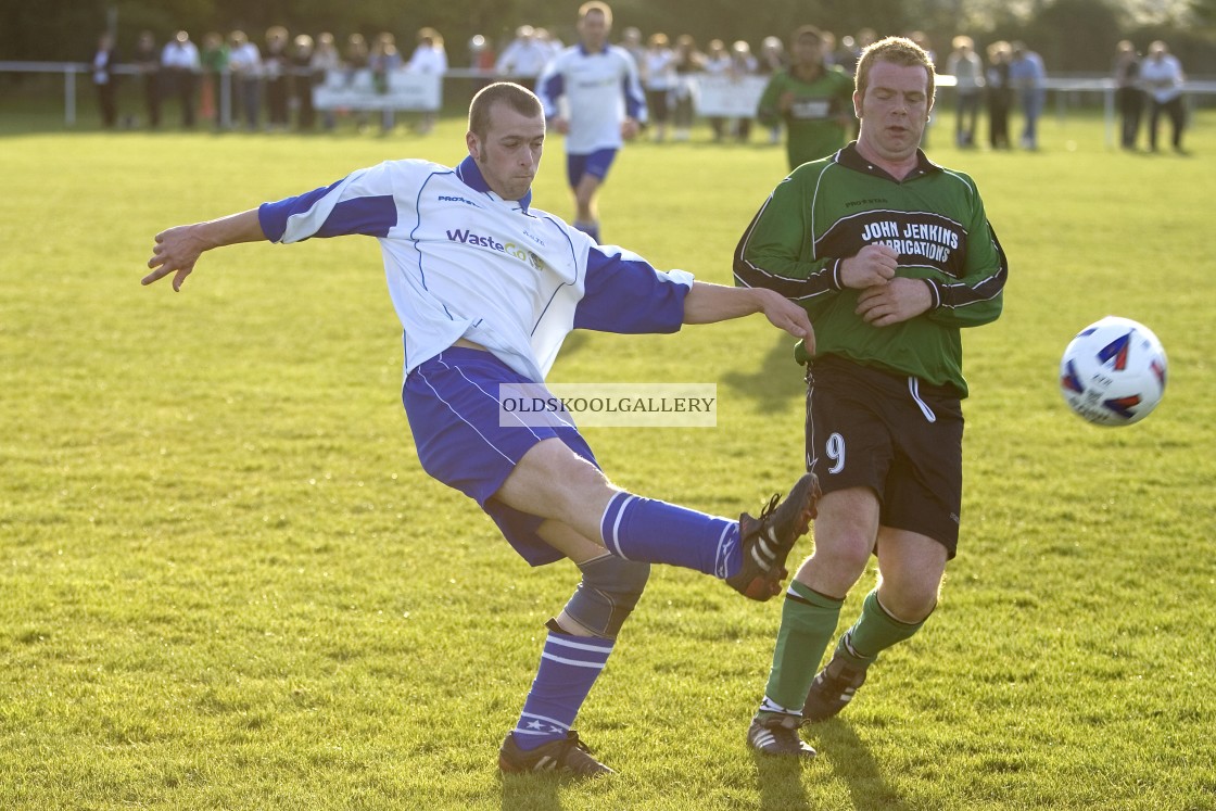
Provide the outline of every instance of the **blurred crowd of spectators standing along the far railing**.
<path id="1" fill-rule="evenodd" d="M 824 71 L 843 72 L 851 78 L 861 51 L 878 34 L 863 28 L 839 39 L 829 30 L 816 29 L 822 41 L 815 53 Z M 669 36 L 663 32 L 643 35 L 630 27 L 621 32 L 619 45 L 634 58 L 644 88 L 648 108 L 646 130 L 654 141 L 686 141 L 698 117 L 698 80 L 702 77 L 764 77 L 773 85 L 788 79 L 793 71 L 804 79 L 815 72 L 799 64 L 794 32 L 789 38 L 766 36 L 753 51 L 744 40 L 711 39 L 704 49 L 689 35 Z M 939 58 L 931 43 L 921 32 L 905 33 L 924 47 L 942 75 L 953 77 L 953 88 L 939 94 L 934 122 L 953 108 L 953 140 L 961 148 L 980 145 L 980 120 L 986 119 L 987 146 L 1008 150 L 1038 147 L 1038 119 L 1046 100 L 1046 68 L 1038 53 L 1026 44 L 993 41 L 976 47 L 967 35 L 955 36 L 947 55 Z M 473 75 L 474 92 L 495 79 L 511 79 L 529 89 L 563 50 L 564 44 L 541 27 L 522 24 L 503 43 L 484 35 L 473 36 L 467 47 L 463 77 Z M 444 39 L 434 28 L 422 28 L 415 35 L 409 56 L 402 55 L 392 33 L 382 32 L 368 41 L 362 34 L 350 34 L 343 44 L 332 33 L 294 36 L 282 26 L 264 34 L 243 30 L 227 34 L 210 32 L 196 45 L 185 30 L 174 33 L 164 44 L 152 32 L 142 32 L 129 64 L 140 75 L 141 114 L 119 114 L 114 67 L 120 57 L 114 36 L 105 33 L 90 63 L 101 120 L 106 128 L 162 125 L 165 107 L 173 106 L 184 128 L 203 124 L 247 130 L 325 130 L 334 129 L 340 119 L 351 118 L 359 129 L 368 126 L 370 111 L 316 109 L 314 89 L 332 77 L 347 81 L 356 72 L 367 71 L 373 85 L 383 89 L 395 72 L 446 74 L 447 53 Z M 1171 145 L 1182 152 L 1186 126 L 1183 98 L 1184 74 L 1178 60 L 1164 41 L 1154 41 L 1145 55 L 1130 41 L 1116 46 L 1111 77 L 1116 84 L 1116 107 L 1121 117 L 1120 142 L 1125 148 L 1139 148 L 1142 136 L 1152 151 L 1158 150 L 1161 120 L 1169 122 Z M 779 105 L 778 105 L 779 107 Z M 381 130 L 392 131 L 396 111 L 375 111 Z M 834 109 L 851 119 L 851 111 Z M 986 113 L 986 116 L 985 116 Z M 1014 118 L 1020 129 L 1010 135 Z M 777 143 L 782 130 L 794 124 L 788 109 L 758 109 L 756 116 L 726 118 L 706 116 L 715 141 L 749 141 L 753 122 L 759 123 L 767 141 Z M 427 133 L 435 122 L 433 111 L 416 116 L 412 128 Z M 855 128 L 856 122 L 849 122 Z M 928 139 L 930 130 L 925 130 Z M 854 129 L 855 134 L 855 129 Z"/>

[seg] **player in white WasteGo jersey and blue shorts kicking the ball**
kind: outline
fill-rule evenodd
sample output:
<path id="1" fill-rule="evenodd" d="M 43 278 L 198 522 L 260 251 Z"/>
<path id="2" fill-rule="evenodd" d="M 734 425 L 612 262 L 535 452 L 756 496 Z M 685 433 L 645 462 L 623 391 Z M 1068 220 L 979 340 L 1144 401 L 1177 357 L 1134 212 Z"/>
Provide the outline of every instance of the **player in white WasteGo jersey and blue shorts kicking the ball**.
<path id="1" fill-rule="evenodd" d="M 612 770 L 589 754 L 574 719 L 649 564 L 696 569 L 769 599 L 781 591 L 818 488 L 805 474 L 759 518 L 738 520 L 642 499 L 608 481 L 572 422 L 512 423 L 500 387 L 542 384 L 575 328 L 675 332 L 764 312 L 807 347 L 815 334 L 806 311 L 773 291 L 658 271 L 533 208 L 544 143 L 536 96 L 491 84 L 469 106 L 468 157 L 458 167 L 389 160 L 298 197 L 171 227 L 157 235 L 143 283 L 171 275 L 178 291 L 203 252 L 238 242 L 379 241 L 404 327 L 401 396 L 423 469 L 474 499 L 531 565 L 569 558 L 582 574 L 548 623 L 499 766 L 595 776 Z"/>

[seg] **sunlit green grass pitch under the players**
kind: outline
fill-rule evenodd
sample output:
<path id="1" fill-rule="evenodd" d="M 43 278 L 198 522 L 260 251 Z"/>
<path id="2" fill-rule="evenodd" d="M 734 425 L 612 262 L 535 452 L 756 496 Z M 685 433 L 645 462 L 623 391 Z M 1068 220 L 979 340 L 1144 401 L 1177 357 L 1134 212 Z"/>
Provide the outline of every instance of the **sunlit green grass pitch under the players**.
<path id="1" fill-rule="evenodd" d="M 452 163 L 462 133 L 0 134 L 0 807 L 1216 809 L 1216 116 L 1192 157 L 1107 150 L 1085 117 L 1034 154 L 930 148 L 978 180 L 1012 267 L 966 338 L 941 607 L 799 766 L 743 742 L 779 601 L 658 569 L 579 719 L 621 772 L 595 783 L 497 775 L 576 573 L 529 570 L 421 472 L 375 242 L 238 246 L 180 294 L 139 285 L 169 225 Z M 625 151 L 604 237 L 727 282 L 784 157 L 699 137 Z M 563 178 L 554 142 L 535 199 L 568 216 Z M 1107 314 L 1170 354 L 1126 429 L 1057 393 Z M 716 383 L 714 429 L 586 433 L 620 485 L 734 514 L 800 471 L 788 357 L 761 319 L 579 333 L 552 379 Z"/>

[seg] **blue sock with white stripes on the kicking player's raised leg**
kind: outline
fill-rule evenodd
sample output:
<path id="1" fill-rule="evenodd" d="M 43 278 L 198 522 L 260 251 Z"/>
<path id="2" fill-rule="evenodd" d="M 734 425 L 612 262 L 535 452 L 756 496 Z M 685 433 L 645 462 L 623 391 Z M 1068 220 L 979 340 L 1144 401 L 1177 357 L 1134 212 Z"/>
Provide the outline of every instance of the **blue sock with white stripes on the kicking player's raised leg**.
<path id="1" fill-rule="evenodd" d="M 724 579 L 743 565 L 738 522 L 664 501 L 618 492 L 599 529 L 608 551 L 629 561 L 669 563 Z"/>

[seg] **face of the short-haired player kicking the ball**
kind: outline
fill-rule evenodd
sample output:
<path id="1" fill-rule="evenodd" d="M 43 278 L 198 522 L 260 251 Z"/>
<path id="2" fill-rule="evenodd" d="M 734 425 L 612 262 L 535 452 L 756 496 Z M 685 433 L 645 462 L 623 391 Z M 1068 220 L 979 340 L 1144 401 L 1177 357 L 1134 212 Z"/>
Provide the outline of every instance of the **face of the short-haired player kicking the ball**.
<path id="1" fill-rule="evenodd" d="M 510 105 L 490 108 L 485 137 L 465 136 L 468 153 L 477 160 L 486 185 L 503 199 L 519 199 L 531 188 L 545 148 L 545 117 L 529 117 Z"/>

